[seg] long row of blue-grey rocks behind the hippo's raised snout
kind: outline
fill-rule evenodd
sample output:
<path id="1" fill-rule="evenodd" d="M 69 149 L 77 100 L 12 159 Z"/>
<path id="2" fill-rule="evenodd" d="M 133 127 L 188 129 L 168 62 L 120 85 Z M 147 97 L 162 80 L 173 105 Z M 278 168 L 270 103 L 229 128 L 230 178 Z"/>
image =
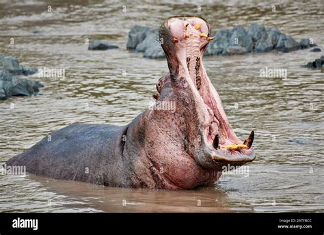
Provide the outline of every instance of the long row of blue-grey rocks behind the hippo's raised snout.
<path id="1" fill-rule="evenodd" d="M 144 57 L 164 57 L 157 34 L 157 29 L 135 25 L 129 32 L 126 47 L 144 53 Z M 220 29 L 213 37 L 215 39 L 209 42 L 205 55 L 266 53 L 273 50 L 287 53 L 316 46 L 308 38 L 297 42 L 278 29 L 266 28 L 257 23 L 249 25 L 247 30 L 242 26 Z"/>

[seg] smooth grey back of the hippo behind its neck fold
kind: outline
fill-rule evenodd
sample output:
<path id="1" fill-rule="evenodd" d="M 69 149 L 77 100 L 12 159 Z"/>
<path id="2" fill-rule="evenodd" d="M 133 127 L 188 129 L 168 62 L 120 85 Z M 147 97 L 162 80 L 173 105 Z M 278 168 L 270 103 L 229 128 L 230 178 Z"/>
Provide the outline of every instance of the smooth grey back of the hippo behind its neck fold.
<path id="1" fill-rule="evenodd" d="M 123 171 L 122 137 L 127 126 L 72 124 L 44 137 L 6 164 L 27 172 L 63 180 L 129 186 Z"/>

